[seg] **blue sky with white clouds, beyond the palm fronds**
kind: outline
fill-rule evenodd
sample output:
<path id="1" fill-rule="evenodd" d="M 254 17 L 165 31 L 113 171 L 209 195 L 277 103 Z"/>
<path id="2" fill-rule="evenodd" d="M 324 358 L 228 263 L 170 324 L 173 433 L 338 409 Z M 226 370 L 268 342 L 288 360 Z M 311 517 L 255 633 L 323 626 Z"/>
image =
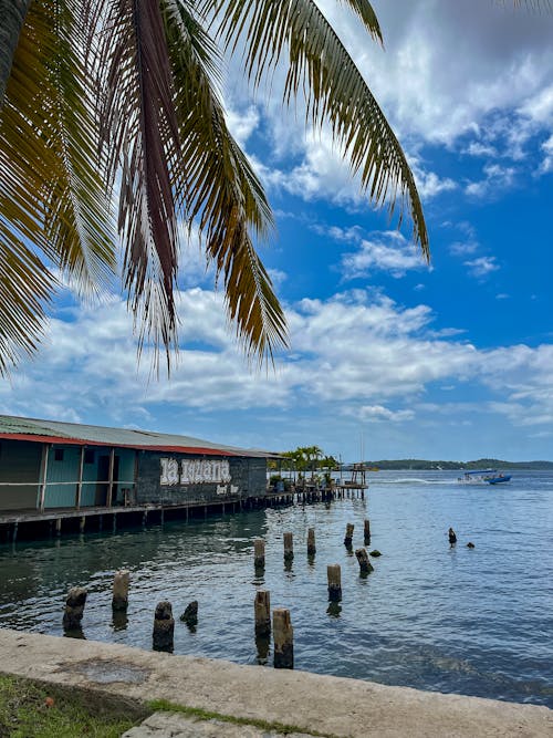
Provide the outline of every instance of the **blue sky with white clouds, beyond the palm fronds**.
<path id="1" fill-rule="evenodd" d="M 291 347 L 252 371 L 197 243 L 184 249 L 181 351 L 136 365 L 117 292 L 60 291 L 40 353 L 0 385 L 1 412 L 182 433 L 344 460 L 553 459 L 553 14 L 510 1 L 373 3 L 383 51 L 321 0 L 417 177 L 431 263 L 375 212 L 326 131 L 237 75 L 229 123 L 268 189 L 261 247 Z"/>

